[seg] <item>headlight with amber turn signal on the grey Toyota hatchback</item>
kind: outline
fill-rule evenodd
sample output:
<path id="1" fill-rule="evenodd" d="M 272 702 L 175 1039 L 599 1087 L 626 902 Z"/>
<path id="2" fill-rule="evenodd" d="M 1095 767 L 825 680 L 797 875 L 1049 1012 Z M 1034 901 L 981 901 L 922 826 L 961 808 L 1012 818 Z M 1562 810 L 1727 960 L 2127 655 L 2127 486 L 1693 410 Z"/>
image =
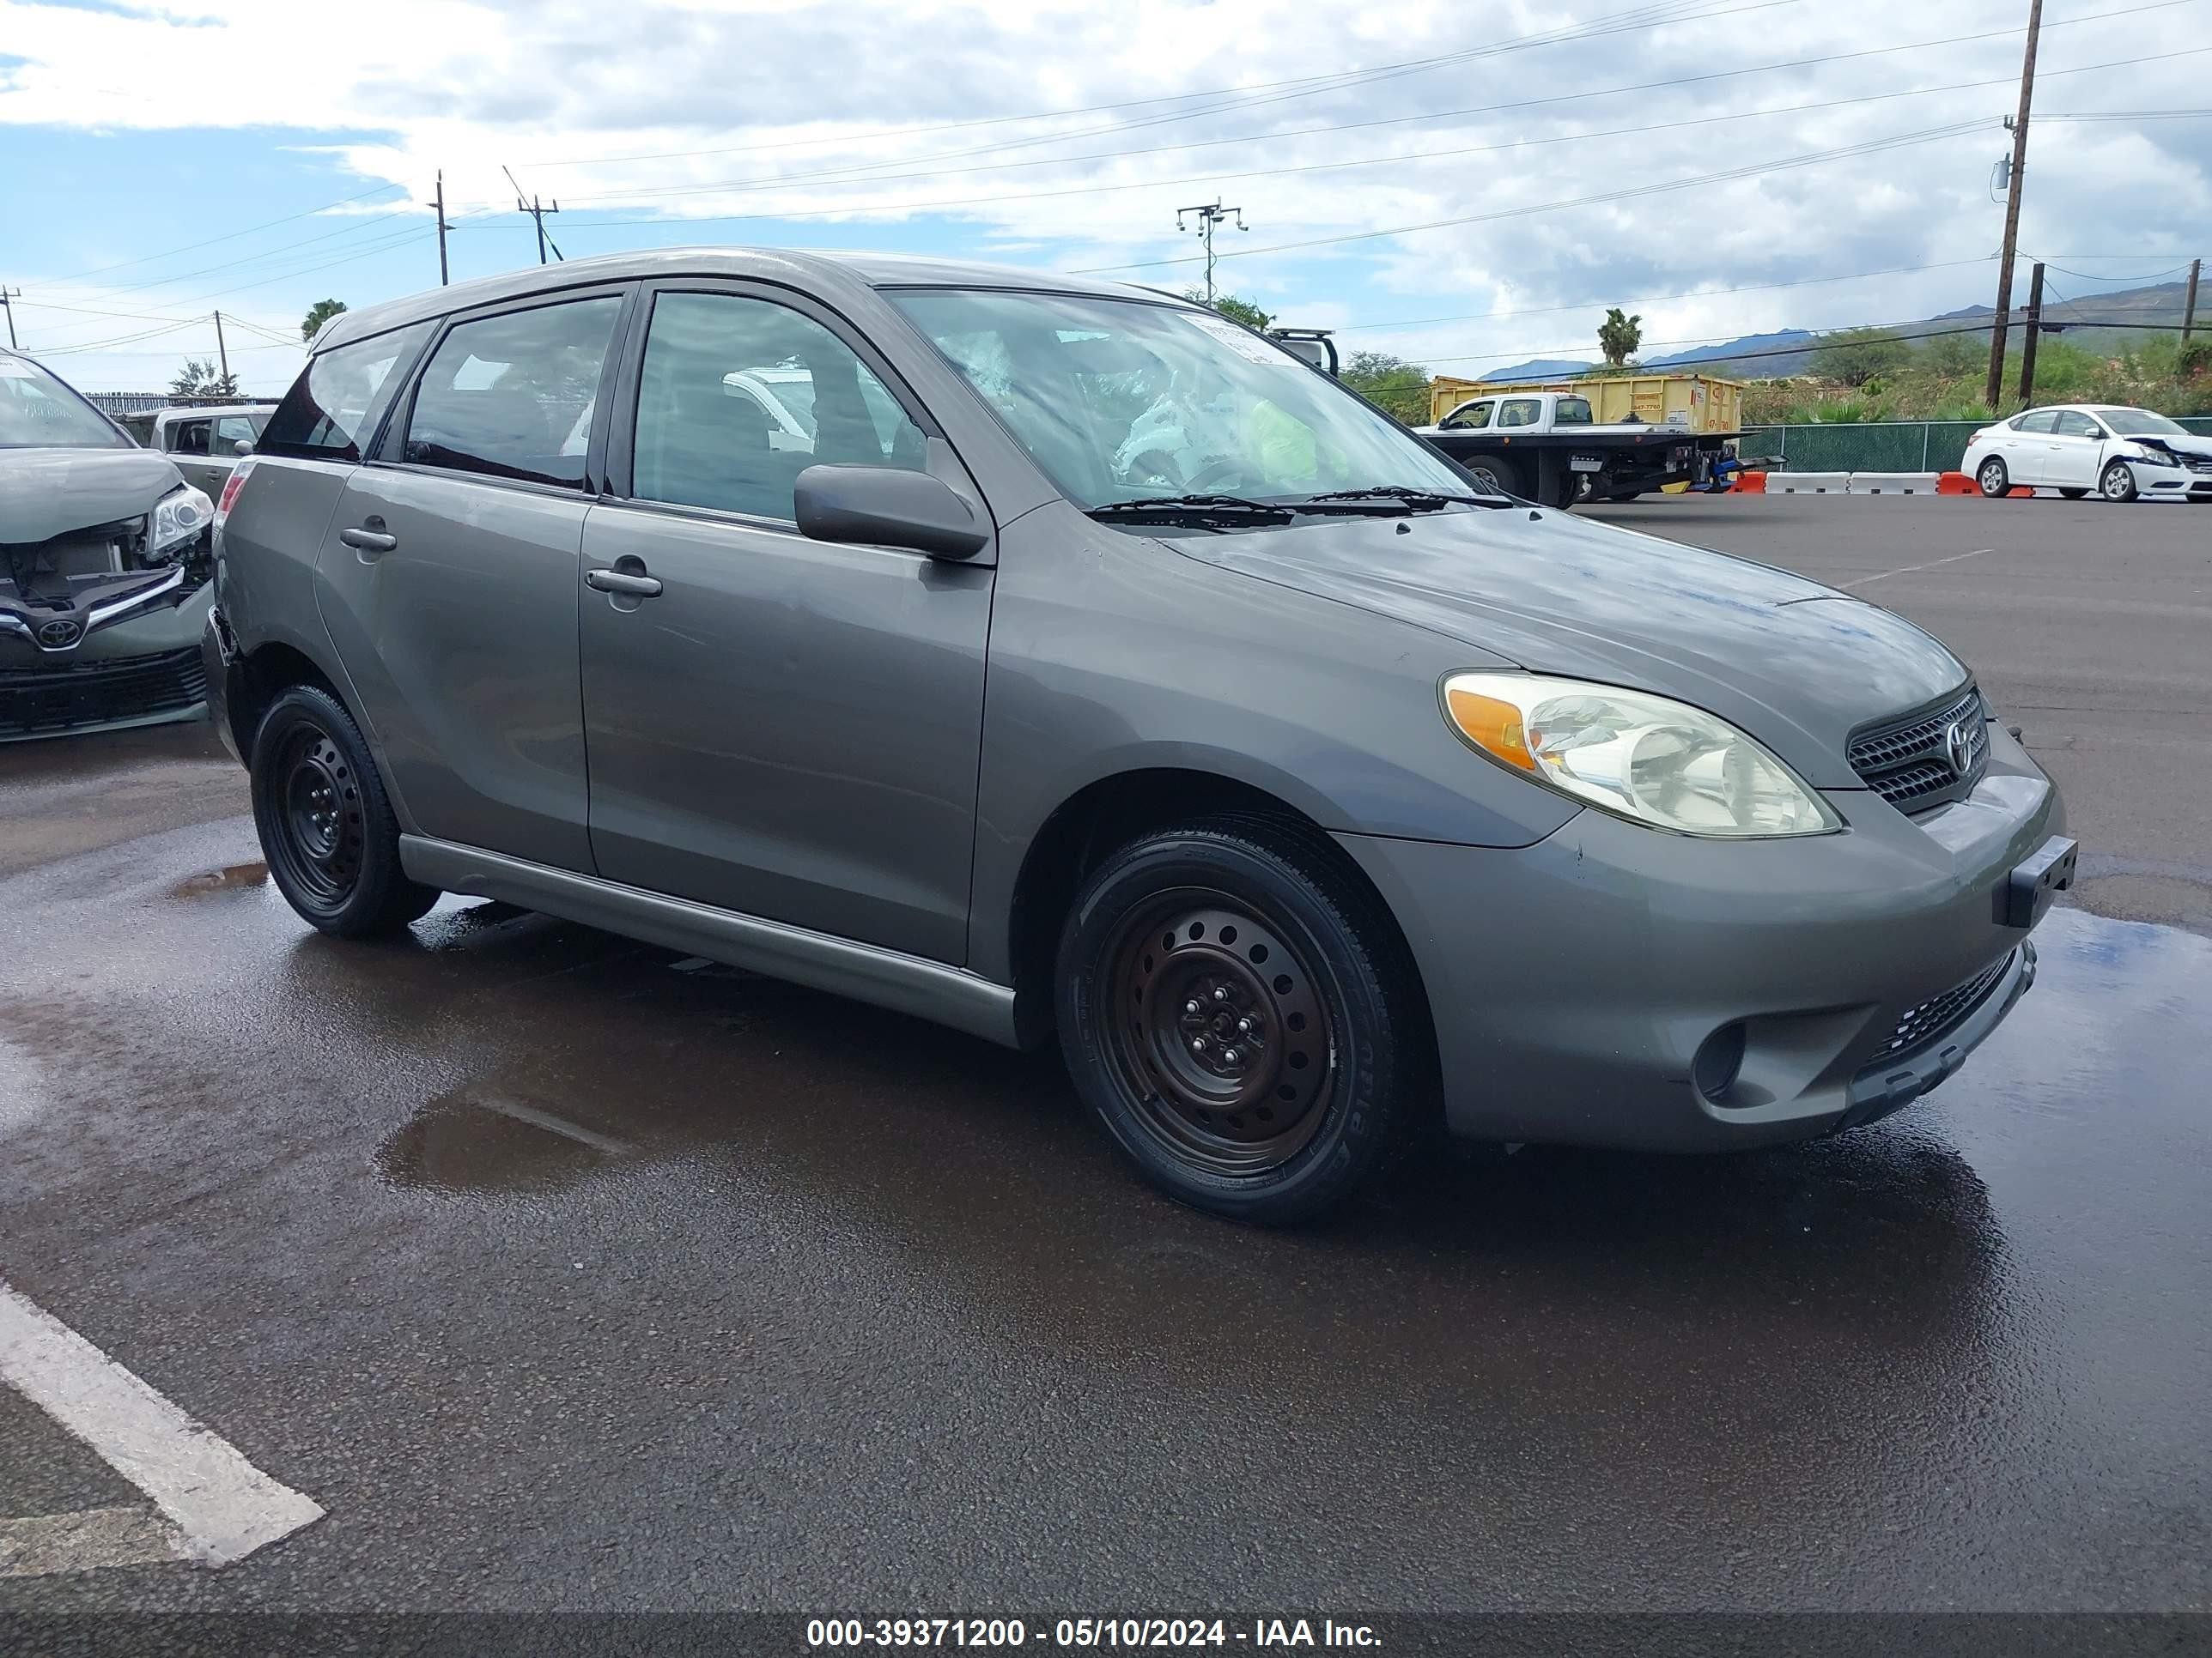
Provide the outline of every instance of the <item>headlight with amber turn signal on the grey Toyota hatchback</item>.
<path id="1" fill-rule="evenodd" d="M 1444 712 L 1500 765 L 1655 829 L 1754 840 L 1843 827 L 1759 743 L 1666 696 L 1537 674 L 1453 674 Z"/>

